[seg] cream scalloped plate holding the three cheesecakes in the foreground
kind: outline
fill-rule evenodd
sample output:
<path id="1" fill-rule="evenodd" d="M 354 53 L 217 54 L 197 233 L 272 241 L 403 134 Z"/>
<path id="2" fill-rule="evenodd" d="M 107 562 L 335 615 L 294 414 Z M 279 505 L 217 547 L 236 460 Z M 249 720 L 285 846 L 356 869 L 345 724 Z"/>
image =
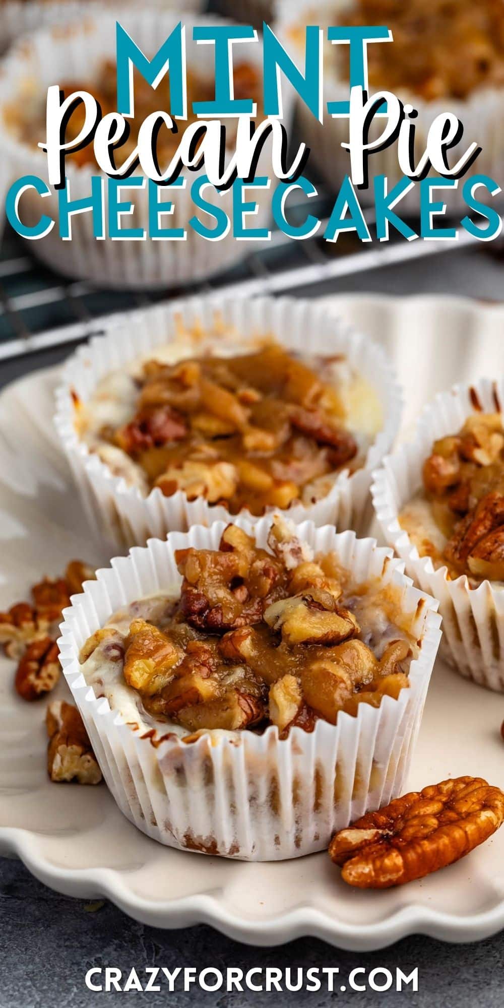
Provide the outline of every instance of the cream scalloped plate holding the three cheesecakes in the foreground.
<path id="1" fill-rule="evenodd" d="M 504 308 L 362 295 L 335 304 L 389 348 L 406 391 L 405 429 L 438 389 L 503 370 Z M 87 530 L 52 432 L 55 379 L 55 371 L 38 372 L 0 396 L 0 609 L 73 556 L 107 561 Z M 326 854 L 243 864 L 162 848 L 123 818 L 105 786 L 49 783 L 44 705 L 15 697 L 12 671 L 0 659 L 0 850 L 19 855 L 54 889 L 106 896 L 156 926 L 205 922 L 264 946 L 313 934 L 370 950 L 412 932 L 470 941 L 504 927 L 504 829 L 457 865 L 386 892 L 350 889 Z M 410 786 L 467 773 L 503 785 L 503 718 L 504 696 L 439 662 Z"/>

